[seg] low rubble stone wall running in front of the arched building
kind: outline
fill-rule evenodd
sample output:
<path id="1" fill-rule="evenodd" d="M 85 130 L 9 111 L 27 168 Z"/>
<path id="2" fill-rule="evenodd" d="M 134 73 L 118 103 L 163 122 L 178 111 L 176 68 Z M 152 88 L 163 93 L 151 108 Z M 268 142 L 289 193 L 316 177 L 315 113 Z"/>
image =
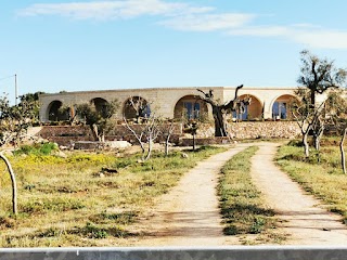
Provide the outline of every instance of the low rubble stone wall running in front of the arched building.
<path id="1" fill-rule="evenodd" d="M 167 126 L 164 126 L 166 128 Z M 141 126 L 133 125 L 133 130 L 141 131 Z M 201 125 L 196 140 L 198 144 L 213 144 L 226 142 L 222 139 L 220 141 L 213 141 L 214 138 L 213 123 Z M 294 121 L 244 121 L 244 122 L 231 122 L 228 131 L 231 133 L 234 140 L 244 139 L 293 139 L 300 134 L 300 130 Z M 60 145 L 69 145 L 72 142 L 77 141 L 93 141 L 92 133 L 88 126 L 44 126 L 42 127 L 39 135 L 51 142 L 56 142 Z M 137 143 L 136 138 L 124 125 L 115 126 L 108 134 L 105 136 L 108 141 L 124 140 L 132 144 Z M 181 125 L 177 125 L 171 135 L 170 142 L 175 144 L 190 145 L 192 135 L 183 133 Z M 159 136 L 157 142 L 164 142 L 164 136 Z"/>

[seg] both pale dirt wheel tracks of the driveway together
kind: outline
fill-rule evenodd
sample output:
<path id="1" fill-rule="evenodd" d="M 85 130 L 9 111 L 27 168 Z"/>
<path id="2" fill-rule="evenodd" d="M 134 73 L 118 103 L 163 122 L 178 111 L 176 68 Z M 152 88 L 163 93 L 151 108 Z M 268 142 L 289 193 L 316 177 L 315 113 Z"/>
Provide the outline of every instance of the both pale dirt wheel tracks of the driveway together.
<path id="1" fill-rule="evenodd" d="M 237 144 L 190 170 L 140 221 L 137 230 L 143 236 L 133 246 L 222 246 L 241 245 L 247 239 L 223 235 L 216 186 L 224 162 L 249 145 Z M 284 244 L 347 245 L 347 226 L 342 217 L 327 212 L 275 167 L 273 156 L 279 144 L 256 145 L 259 151 L 252 158 L 252 177 L 268 206 L 278 212 L 279 230 L 286 235 Z"/>

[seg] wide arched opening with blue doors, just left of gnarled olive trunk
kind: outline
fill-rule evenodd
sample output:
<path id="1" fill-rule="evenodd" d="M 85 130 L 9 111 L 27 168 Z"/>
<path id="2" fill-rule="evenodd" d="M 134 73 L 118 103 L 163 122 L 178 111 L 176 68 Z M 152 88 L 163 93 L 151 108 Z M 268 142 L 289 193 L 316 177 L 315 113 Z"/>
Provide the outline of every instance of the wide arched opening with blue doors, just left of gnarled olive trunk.
<path id="1" fill-rule="evenodd" d="M 206 103 L 197 95 L 184 95 L 175 105 L 174 117 L 184 119 L 204 119 L 208 117 Z"/>

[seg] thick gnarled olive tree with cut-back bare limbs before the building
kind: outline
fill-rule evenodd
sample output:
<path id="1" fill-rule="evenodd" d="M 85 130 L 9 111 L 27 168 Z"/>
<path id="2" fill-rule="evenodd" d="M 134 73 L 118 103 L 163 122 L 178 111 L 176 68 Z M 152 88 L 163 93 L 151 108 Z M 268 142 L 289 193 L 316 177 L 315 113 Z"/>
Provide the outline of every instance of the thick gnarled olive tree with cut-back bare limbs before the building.
<path id="1" fill-rule="evenodd" d="M 235 96 L 233 100 L 226 104 L 220 104 L 214 96 L 214 91 L 210 89 L 208 92 L 197 89 L 203 95 L 201 99 L 213 107 L 213 115 L 215 120 L 215 136 L 228 136 L 226 114 L 234 112 L 237 107 L 249 104 L 250 100 L 240 100 L 237 92 L 243 88 L 243 84 L 236 87 Z"/>

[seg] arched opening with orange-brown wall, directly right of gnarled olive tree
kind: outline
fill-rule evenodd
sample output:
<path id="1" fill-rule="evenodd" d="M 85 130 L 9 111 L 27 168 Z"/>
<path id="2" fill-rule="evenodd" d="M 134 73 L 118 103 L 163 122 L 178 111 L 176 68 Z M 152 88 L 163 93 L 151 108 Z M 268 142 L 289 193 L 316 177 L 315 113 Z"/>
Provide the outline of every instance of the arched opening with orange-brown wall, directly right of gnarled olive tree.
<path id="1" fill-rule="evenodd" d="M 233 112 L 233 118 L 240 119 L 240 120 L 253 120 L 253 119 L 260 119 L 262 115 L 262 104 L 260 101 L 250 94 L 243 94 L 240 95 L 240 100 L 248 99 L 250 98 L 250 104 L 246 105 L 244 108 L 244 113 L 236 114 L 236 112 Z"/>

